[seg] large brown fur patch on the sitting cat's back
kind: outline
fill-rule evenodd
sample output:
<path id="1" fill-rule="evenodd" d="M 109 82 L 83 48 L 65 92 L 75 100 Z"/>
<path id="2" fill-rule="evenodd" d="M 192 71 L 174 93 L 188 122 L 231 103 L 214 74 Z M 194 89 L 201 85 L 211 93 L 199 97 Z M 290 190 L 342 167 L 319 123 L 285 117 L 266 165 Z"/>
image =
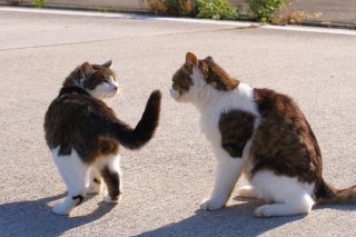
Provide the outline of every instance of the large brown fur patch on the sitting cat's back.
<path id="1" fill-rule="evenodd" d="M 316 137 L 294 100 L 269 89 L 254 89 L 260 113 L 253 156 L 256 172 L 271 169 L 312 181 L 322 172 L 322 154 Z M 284 161 L 281 161 L 284 160 Z M 318 165 L 317 165 L 318 164 Z"/>

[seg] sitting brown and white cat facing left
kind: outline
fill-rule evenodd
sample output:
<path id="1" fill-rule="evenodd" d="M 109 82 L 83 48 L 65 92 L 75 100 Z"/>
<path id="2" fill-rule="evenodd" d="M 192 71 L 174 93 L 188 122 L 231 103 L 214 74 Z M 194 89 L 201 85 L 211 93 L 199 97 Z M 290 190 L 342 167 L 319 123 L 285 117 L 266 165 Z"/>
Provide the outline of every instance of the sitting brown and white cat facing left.
<path id="1" fill-rule="evenodd" d="M 244 174 L 239 195 L 267 203 L 260 217 L 308 214 L 316 203 L 356 203 L 356 186 L 336 189 L 323 176 L 317 139 L 288 96 L 231 78 L 211 57 L 188 52 L 172 76 L 171 97 L 200 111 L 200 127 L 217 160 L 215 185 L 200 208 L 228 201 Z"/>

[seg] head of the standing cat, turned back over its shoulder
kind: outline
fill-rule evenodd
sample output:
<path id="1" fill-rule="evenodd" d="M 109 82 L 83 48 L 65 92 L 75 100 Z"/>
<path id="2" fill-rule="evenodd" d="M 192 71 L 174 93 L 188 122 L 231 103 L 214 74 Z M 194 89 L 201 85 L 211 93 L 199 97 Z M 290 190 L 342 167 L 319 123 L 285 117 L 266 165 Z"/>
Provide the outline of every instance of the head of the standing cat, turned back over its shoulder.
<path id="1" fill-rule="evenodd" d="M 119 90 L 116 75 L 111 67 L 112 60 L 103 65 L 85 62 L 67 78 L 63 86 L 81 87 L 95 98 L 109 99 L 116 96 Z"/>

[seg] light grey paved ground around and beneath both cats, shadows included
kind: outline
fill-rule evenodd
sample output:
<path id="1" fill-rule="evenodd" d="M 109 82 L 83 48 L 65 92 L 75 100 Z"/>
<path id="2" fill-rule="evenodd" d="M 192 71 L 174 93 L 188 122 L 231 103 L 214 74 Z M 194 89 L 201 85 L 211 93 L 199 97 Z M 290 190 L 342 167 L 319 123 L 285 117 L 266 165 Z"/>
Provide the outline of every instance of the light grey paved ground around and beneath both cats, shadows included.
<path id="1" fill-rule="evenodd" d="M 263 219 L 251 216 L 256 201 L 234 194 L 224 210 L 198 210 L 212 187 L 211 149 L 198 132 L 197 111 L 168 95 L 171 75 L 194 51 L 254 87 L 293 96 L 319 140 L 325 178 L 347 187 L 356 184 L 355 36 L 1 8 L 0 22 L 0 236 L 355 235 L 355 205 Z M 158 88 L 160 127 L 142 150 L 123 150 L 121 205 L 97 196 L 70 217 L 55 216 L 50 207 L 65 187 L 44 144 L 43 115 L 77 65 L 110 58 L 122 88 L 110 102 L 118 116 L 136 125 Z"/>

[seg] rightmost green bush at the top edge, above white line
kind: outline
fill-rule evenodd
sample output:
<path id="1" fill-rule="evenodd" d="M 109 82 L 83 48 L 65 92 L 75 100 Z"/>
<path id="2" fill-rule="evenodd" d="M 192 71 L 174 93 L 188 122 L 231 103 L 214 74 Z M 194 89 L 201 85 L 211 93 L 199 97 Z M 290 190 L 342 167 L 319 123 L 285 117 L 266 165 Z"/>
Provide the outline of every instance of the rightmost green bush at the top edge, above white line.
<path id="1" fill-rule="evenodd" d="M 273 13 L 285 4 L 285 0 L 248 0 L 249 9 L 263 22 L 271 21 Z"/>

